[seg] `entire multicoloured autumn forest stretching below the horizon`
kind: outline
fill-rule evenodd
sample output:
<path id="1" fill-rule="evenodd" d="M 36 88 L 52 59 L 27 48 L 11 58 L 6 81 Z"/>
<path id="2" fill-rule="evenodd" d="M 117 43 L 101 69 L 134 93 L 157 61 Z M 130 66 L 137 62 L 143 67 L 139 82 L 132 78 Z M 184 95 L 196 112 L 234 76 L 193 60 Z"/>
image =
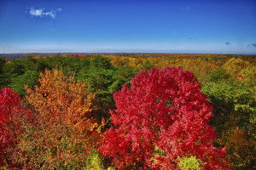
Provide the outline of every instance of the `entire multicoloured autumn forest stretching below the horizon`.
<path id="1" fill-rule="evenodd" d="M 0 58 L 0 169 L 256 168 L 256 58 Z"/>

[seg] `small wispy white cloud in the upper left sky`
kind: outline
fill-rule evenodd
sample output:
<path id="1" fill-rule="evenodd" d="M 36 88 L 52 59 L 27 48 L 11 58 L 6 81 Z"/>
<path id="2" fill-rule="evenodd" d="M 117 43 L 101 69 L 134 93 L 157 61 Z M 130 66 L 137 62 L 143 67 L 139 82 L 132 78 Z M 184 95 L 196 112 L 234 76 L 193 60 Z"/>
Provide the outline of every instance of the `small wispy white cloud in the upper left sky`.
<path id="1" fill-rule="evenodd" d="M 55 18 L 56 13 L 61 11 L 61 8 L 56 8 L 52 10 L 45 10 L 44 8 L 30 8 L 29 14 L 36 17 L 49 16 L 50 18 Z"/>

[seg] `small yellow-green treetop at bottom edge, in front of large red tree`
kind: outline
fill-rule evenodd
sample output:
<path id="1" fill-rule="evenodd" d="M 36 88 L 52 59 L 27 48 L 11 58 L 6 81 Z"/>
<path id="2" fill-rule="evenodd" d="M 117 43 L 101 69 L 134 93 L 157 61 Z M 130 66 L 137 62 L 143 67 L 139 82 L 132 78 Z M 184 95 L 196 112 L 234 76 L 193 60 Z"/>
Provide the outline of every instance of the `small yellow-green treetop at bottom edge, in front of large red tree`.
<path id="1" fill-rule="evenodd" d="M 177 163 L 177 167 L 181 170 L 201 170 L 201 161 L 196 159 L 195 156 L 184 156 Z"/>

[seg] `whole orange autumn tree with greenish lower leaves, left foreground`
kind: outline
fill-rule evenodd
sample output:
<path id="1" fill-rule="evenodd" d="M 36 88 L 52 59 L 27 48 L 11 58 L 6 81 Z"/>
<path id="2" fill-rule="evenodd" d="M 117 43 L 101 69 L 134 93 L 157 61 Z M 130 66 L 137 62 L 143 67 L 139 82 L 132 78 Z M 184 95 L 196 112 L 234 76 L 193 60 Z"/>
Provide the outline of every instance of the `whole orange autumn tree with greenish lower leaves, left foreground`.
<path id="1" fill-rule="evenodd" d="M 61 71 L 45 71 L 40 86 L 26 88 L 35 120 L 20 142 L 24 169 L 80 169 L 96 148 L 100 134 L 91 118 L 91 100 L 84 83 Z"/>

